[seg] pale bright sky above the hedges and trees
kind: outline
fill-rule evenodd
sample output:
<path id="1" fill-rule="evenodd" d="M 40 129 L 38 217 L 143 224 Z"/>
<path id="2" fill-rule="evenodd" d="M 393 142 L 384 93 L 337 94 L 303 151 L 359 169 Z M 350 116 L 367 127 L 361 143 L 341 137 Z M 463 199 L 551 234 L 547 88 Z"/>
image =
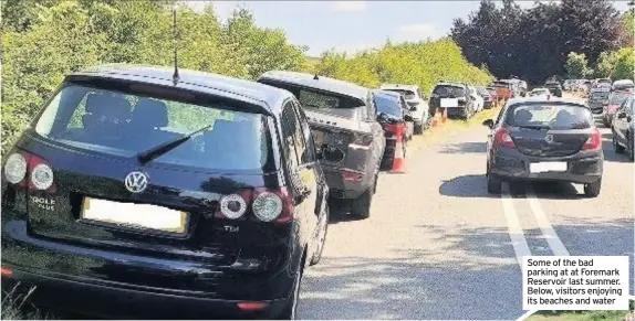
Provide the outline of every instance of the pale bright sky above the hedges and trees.
<path id="1" fill-rule="evenodd" d="M 593 1 L 593 0 L 589 0 Z M 480 1 L 188 1 L 195 9 L 214 3 L 225 20 L 237 6 L 251 10 L 258 25 L 280 28 L 291 43 L 309 46 L 319 56 L 335 49 L 354 53 L 393 42 L 446 35 L 455 18 L 467 18 Z M 531 8 L 535 1 L 518 1 Z M 549 1 L 542 1 L 549 2 Z M 616 0 L 624 11 L 627 0 Z"/>

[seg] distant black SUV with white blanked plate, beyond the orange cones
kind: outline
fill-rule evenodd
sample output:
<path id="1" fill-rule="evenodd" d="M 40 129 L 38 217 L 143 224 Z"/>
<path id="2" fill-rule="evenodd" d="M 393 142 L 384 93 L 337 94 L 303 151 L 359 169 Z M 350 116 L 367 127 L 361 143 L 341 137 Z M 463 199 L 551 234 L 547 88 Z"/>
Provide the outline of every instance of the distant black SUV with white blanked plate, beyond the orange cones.
<path id="1" fill-rule="evenodd" d="M 471 118 L 476 113 L 476 106 L 467 84 L 439 82 L 430 96 L 430 117 L 437 109 L 447 109 L 448 117 Z"/>

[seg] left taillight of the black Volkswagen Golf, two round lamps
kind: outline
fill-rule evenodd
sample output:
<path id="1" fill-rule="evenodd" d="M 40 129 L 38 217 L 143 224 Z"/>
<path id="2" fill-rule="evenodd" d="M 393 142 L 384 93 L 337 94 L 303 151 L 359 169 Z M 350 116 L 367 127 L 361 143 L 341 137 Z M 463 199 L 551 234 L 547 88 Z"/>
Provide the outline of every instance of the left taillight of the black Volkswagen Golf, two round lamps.
<path id="1" fill-rule="evenodd" d="M 4 178 L 11 184 L 30 190 L 54 192 L 53 170 L 49 163 L 35 154 L 20 151 L 12 153 L 4 164 Z"/>

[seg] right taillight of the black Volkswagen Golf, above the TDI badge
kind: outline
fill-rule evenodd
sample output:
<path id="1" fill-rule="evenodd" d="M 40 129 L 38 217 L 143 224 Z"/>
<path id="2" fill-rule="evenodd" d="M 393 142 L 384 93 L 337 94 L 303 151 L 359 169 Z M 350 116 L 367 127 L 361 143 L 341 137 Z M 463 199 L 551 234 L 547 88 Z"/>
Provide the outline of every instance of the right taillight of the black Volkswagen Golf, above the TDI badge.
<path id="1" fill-rule="evenodd" d="M 288 223 L 293 218 L 293 201 L 287 188 L 242 190 L 222 196 L 215 217 L 239 220 L 248 213 L 262 222 Z"/>

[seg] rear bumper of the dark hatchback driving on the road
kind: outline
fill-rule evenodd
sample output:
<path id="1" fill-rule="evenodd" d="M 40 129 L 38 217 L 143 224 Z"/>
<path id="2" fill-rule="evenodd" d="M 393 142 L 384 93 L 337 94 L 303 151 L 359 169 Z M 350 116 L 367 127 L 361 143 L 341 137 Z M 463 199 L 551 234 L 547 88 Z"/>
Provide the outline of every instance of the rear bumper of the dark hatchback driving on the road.
<path id="1" fill-rule="evenodd" d="M 531 173 L 532 162 L 566 162 L 565 172 Z M 499 150 L 493 154 L 489 169 L 490 173 L 506 181 L 562 181 L 577 184 L 589 184 L 602 178 L 604 156 L 602 152 L 580 152 L 571 157 L 537 158 L 528 157 L 518 150 Z"/>

